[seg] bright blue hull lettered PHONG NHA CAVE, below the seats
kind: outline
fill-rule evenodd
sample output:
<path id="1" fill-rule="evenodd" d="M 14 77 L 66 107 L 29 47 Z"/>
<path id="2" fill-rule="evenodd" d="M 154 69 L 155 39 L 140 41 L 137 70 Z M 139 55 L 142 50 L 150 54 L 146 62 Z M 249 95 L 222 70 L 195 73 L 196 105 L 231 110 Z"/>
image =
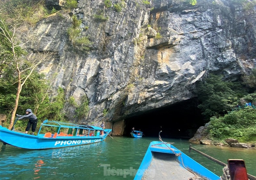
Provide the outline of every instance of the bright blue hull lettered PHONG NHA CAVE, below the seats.
<path id="1" fill-rule="evenodd" d="M 111 130 L 106 129 L 106 132 Z M 20 132 L 10 131 L 0 126 L 0 141 L 4 144 L 26 148 L 26 149 L 52 149 L 69 146 L 81 146 L 98 143 L 106 139 L 108 133 L 102 136 L 57 136 L 56 138 L 45 138 Z"/>

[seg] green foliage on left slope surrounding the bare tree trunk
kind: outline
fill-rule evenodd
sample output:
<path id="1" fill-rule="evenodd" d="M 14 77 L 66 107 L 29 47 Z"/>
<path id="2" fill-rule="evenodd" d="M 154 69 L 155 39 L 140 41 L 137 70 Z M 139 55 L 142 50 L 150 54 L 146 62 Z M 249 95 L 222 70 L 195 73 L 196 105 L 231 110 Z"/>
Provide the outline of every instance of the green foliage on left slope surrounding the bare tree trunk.
<path id="1" fill-rule="evenodd" d="M 20 30 L 20 26 L 16 26 L 16 23 L 28 23 L 26 20 L 29 18 L 38 18 L 40 15 L 41 4 L 35 1 L 25 1 L 25 0 L 13 0 L 4 2 L 4 6 L 7 8 L 7 13 L 1 13 L 1 22 L 0 26 L 2 28 L 1 32 L 5 34 L 13 35 L 9 30 L 7 25 L 11 25 Z M 9 6 L 6 6 L 8 5 Z M 33 4 L 35 3 L 35 4 Z M 40 1 L 41 3 L 41 1 Z M 23 9 L 25 8 L 25 9 Z M 38 9 L 39 8 L 39 9 Z M 44 11 L 42 11 L 44 14 Z M 13 21 L 11 21 L 13 19 Z M 5 24 L 3 21 L 6 20 L 10 24 Z M 35 21 L 36 22 L 36 21 Z M 5 29 L 4 28 L 7 28 Z M 26 71 L 28 67 L 31 66 L 30 59 L 26 58 L 26 51 L 20 48 L 20 46 L 15 44 L 15 36 L 12 37 L 14 44 L 11 44 L 3 34 L 0 34 L 0 111 L 4 114 L 9 114 L 14 107 L 17 93 L 18 85 L 18 76 L 16 71 L 17 62 L 19 69 L 22 73 L 21 79 L 28 78 L 26 81 L 23 81 L 25 84 L 22 86 L 22 91 L 19 92 L 19 104 L 17 113 L 23 114 L 24 109 L 32 109 L 33 112 L 37 115 L 38 119 L 53 118 L 54 120 L 63 119 L 64 114 L 61 113 L 61 110 L 64 107 L 64 91 L 58 90 L 58 94 L 50 96 L 50 86 L 49 83 L 43 74 L 39 74 L 36 71 Z M 18 42 L 17 42 L 18 44 Z M 14 45 L 14 53 L 12 52 L 12 45 Z M 24 59 L 23 59 L 24 58 Z M 31 73 L 31 74 L 30 74 Z M 51 89 L 53 89 L 51 87 Z M 15 109 L 16 111 L 16 109 Z M 39 121 L 40 122 L 40 121 Z M 25 123 L 26 124 L 26 123 Z"/>

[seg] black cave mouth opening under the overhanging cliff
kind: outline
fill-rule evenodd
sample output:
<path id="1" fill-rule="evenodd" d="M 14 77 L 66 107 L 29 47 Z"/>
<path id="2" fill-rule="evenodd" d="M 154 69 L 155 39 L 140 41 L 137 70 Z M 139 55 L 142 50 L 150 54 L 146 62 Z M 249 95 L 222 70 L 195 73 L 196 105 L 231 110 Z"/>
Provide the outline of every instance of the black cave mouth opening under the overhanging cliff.
<path id="1" fill-rule="evenodd" d="M 147 137 L 193 138 L 197 129 L 206 123 L 193 98 L 163 108 L 150 110 L 125 119 L 124 136 L 131 136 L 132 127 Z"/>

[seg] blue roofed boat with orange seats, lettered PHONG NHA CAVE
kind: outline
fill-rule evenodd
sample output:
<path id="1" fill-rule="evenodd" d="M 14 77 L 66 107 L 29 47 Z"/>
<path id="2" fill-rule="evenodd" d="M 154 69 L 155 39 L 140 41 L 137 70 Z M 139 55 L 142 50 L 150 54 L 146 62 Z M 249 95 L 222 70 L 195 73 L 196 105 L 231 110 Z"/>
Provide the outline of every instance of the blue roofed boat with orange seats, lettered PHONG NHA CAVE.
<path id="1" fill-rule="evenodd" d="M 40 133 L 45 128 L 53 133 Z M 0 141 L 4 145 L 26 149 L 52 149 L 98 143 L 105 140 L 110 131 L 96 126 L 45 120 L 36 136 L 11 131 L 0 125 Z"/>

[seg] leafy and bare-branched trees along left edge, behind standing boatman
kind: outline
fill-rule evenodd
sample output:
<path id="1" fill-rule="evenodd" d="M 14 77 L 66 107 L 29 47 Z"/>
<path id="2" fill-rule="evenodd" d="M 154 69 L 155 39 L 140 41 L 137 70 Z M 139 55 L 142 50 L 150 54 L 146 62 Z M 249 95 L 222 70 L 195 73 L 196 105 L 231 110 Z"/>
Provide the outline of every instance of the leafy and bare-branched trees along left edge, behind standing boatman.
<path id="1" fill-rule="evenodd" d="M 16 38 L 20 34 L 25 36 L 27 27 L 46 15 L 43 4 L 44 1 L 0 1 L 0 111 L 6 113 L 12 109 L 9 128 L 16 110 L 21 113 L 20 109 L 33 109 L 39 121 L 44 118 L 64 120 L 61 112 L 64 90 L 52 88 L 54 77 L 47 80 L 36 71 L 37 66 L 52 58 L 55 52 L 34 50 L 28 54 L 21 47 L 30 41 L 20 44 Z"/>

